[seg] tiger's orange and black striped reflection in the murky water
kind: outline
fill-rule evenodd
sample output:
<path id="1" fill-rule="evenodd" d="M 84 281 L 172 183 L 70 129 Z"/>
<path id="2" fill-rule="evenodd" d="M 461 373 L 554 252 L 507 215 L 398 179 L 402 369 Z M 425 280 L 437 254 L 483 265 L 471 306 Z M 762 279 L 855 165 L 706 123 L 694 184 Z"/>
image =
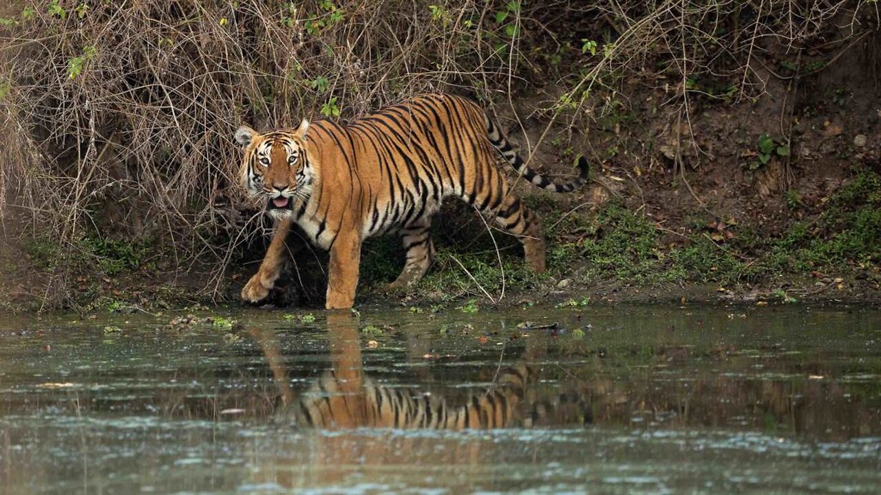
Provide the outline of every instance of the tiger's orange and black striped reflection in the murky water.
<path id="1" fill-rule="evenodd" d="M 540 358 L 541 349 L 528 347 L 525 362 L 501 367 L 485 392 L 454 403 L 413 388 L 387 388 L 363 373 L 359 332 L 350 312 L 329 312 L 328 327 L 331 369 L 300 395 L 290 387 L 273 336 L 251 331 L 280 388 L 283 407 L 278 410 L 278 420 L 319 429 L 447 430 L 584 425 L 591 421 L 589 405 L 578 395 L 535 398 L 537 367 L 530 361 Z"/>

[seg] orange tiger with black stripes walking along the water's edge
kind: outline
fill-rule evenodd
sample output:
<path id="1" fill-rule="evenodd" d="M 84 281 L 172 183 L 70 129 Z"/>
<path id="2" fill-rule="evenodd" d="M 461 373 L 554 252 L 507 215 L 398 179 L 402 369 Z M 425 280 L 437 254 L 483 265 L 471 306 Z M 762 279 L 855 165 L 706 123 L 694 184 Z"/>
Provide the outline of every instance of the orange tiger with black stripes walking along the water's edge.
<path id="1" fill-rule="evenodd" d="M 389 289 L 415 284 L 435 254 L 432 217 L 455 196 L 519 238 L 527 264 L 545 270 L 541 221 L 512 193 L 496 166 L 502 158 L 539 188 L 570 192 L 587 181 L 589 165 L 559 184 L 529 168 L 476 103 L 424 94 L 348 124 L 303 119 L 296 129 L 257 132 L 242 125 L 241 186 L 263 199 L 275 232 L 241 299 L 266 298 L 285 264 L 285 238 L 297 224 L 307 240 L 329 250 L 325 307 L 352 307 L 362 241 L 399 233 L 403 270 Z"/>

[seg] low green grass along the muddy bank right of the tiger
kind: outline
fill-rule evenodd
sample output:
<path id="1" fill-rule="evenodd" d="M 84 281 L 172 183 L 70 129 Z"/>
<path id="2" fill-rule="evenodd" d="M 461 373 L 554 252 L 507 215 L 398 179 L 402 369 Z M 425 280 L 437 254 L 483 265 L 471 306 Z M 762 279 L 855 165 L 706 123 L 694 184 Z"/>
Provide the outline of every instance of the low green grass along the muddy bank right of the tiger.
<path id="1" fill-rule="evenodd" d="M 540 211 L 545 225 L 554 225 L 559 219 L 553 218 L 553 211 L 559 208 L 546 197 L 530 197 L 527 203 Z M 556 232 L 546 232 L 547 274 L 529 272 L 515 250 L 503 252 L 506 286 L 528 287 L 576 273 L 583 282 L 599 279 L 637 285 L 769 283 L 778 278 L 806 276 L 814 270 L 840 272 L 848 267 L 869 266 L 881 261 L 881 176 L 873 172 L 855 175 L 830 196 L 818 217 L 795 221 L 777 236 L 767 237 L 748 226 L 729 225 L 733 237 L 711 240 L 706 223 L 700 219 L 693 221 L 690 229 L 683 242 L 671 247 L 661 243 L 663 232 L 649 218 L 620 203 L 606 204 L 593 214 L 570 215 L 554 227 Z M 580 240 L 555 241 L 558 233 L 567 233 L 569 239 L 578 234 Z M 392 270 L 389 279 L 396 270 L 400 267 Z M 442 248 L 419 290 L 440 291 L 450 298 L 480 294 L 476 280 L 488 292 L 498 293 L 501 271 L 492 250 L 457 253 Z"/>

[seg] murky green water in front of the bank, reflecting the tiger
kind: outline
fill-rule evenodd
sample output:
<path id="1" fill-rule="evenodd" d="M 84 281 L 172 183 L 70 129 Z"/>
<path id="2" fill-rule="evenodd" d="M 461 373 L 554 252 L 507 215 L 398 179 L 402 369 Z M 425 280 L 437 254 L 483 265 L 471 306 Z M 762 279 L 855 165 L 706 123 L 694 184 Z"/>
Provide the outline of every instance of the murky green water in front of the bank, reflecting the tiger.
<path id="1" fill-rule="evenodd" d="M 241 323 L 233 329 L 167 328 L 171 314 L 5 318 L 0 491 L 881 486 L 881 311 L 314 314 L 310 322 L 280 311 L 223 314 Z M 523 321 L 531 326 L 518 328 Z M 500 385 L 521 375 L 522 388 Z M 423 404 L 422 412 L 444 402 L 435 418 L 482 404 L 471 421 L 507 427 L 374 427 L 395 397 Z M 418 423 L 398 412 L 396 425 Z"/>

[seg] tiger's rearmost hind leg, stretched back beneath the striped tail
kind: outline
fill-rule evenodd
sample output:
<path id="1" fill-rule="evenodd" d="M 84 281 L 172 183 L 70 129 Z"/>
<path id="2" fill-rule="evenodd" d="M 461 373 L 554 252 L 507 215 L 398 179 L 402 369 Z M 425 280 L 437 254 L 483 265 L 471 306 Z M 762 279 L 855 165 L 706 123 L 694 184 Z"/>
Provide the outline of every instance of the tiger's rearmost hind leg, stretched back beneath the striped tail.
<path id="1" fill-rule="evenodd" d="M 502 180 L 499 184 L 500 188 L 494 192 L 478 194 L 470 203 L 477 205 L 505 232 L 515 235 L 523 245 L 526 263 L 532 270 L 542 273 L 545 270 L 542 221 L 534 211 L 523 205 L 506 182 Z M 493 203 L 498 206 L 487 206 Z"/>

